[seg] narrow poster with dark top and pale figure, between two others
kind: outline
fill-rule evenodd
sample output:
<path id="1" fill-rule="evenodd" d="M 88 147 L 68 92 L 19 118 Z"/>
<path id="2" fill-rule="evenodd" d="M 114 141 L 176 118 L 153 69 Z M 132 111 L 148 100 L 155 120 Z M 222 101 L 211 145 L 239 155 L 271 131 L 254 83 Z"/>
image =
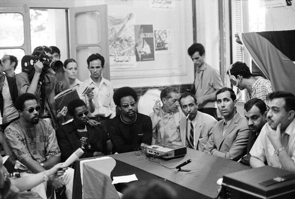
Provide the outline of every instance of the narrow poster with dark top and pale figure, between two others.
<path id="1" fill-rule="evenodd" d="M 152 25 L 134 25 L 134 33 L 136 61 L 155 60 Z"/>

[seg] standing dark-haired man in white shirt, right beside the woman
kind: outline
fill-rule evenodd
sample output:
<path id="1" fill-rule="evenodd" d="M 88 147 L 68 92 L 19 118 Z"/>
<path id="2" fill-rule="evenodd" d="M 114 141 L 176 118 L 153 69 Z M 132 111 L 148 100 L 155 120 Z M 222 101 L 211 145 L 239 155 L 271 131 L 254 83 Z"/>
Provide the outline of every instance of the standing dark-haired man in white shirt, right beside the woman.
<path id="1" fill-rule="evenodd" d="M 91 75 L 85 83 L 94 87 L 93 101 L 95 104 L 94 112 L 88 116 L 103 124 L 116 115 L 111 82 L 103 77 L 105 58 L 99 53 L 92 54 L 87 58 L 87 65 Z"/>

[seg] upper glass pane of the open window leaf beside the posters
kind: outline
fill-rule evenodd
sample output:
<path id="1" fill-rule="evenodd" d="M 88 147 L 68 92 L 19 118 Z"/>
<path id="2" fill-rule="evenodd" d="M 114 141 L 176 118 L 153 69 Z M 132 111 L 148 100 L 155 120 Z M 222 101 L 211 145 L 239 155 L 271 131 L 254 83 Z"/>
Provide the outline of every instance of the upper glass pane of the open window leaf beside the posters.
<path id="1" fill-rule="evenodd" d="M 101 29 L 101 16 L 98 11 L 80 12 L 75 15 L 76 44 L 100 43 Z"/>

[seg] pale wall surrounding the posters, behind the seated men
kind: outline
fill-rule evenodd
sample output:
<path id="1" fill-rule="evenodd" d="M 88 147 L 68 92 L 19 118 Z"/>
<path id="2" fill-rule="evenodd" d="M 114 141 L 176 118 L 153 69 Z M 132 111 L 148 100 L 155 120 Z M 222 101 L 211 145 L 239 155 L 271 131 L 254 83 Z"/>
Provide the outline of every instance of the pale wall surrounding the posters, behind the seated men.
<path id="1" fill-rule="evenodd" d="M 186 50 L 192 44 L 192 6 L 190 0 L 173 0 L 175 8 L 154 10 L 148 0 L 75 0 L 74 6 L 108 4 L 108 12 L 118 9 L 134 13 L 135 25 L 152 24 L 153 29 L 173 30 L 173 51 L 155 55 L 154 61 L 137 62 L 135 68 L 110 68 L 114 88 L 155 87 L 191 84 L 193 64 Z"/>

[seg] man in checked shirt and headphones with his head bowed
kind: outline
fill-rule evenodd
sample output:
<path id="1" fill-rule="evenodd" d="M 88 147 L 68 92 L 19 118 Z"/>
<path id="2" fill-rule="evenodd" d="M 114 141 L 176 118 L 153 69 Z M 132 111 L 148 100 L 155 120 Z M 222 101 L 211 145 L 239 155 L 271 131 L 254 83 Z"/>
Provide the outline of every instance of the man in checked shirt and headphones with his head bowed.
<path id="1" fill-rule="evenodd" d="M 272 86 L 268 79 L 264 79 L 261 76 L 253 76 L 249 67 L 242 62 L 232 64 L 227 74 L 233 86 L 238 87 L 240 90 L 247 89 L 246 101 L 258 98 L 267 103 L 266 97 L 272 93 Z"/>

